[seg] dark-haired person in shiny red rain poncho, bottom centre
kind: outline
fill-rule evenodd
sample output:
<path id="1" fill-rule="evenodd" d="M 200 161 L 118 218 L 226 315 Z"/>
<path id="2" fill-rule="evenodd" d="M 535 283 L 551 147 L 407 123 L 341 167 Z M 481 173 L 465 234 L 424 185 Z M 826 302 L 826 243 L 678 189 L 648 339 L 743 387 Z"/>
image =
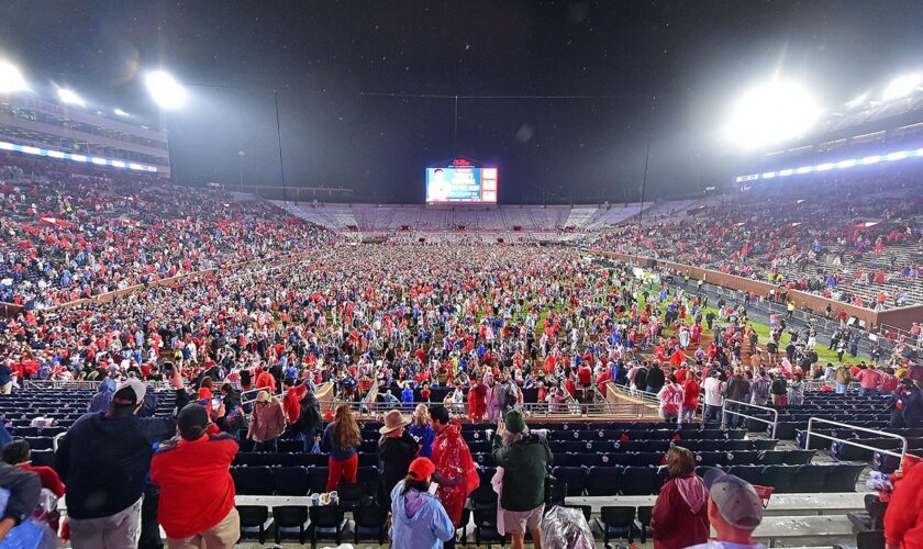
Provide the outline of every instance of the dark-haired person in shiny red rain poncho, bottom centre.
<path id="1" fill-rule="evenodd" d="M 462 438 L 462 426 L 451 422 L 445 406 L 430 410 L 430 423 L 436 438 L 433 441 L 433 463 L 436 466 L 434 480 L 440 489 L 436 495 L 456 527 L 462 524 L 462 508 L 465 500 L 480 484 L 471 451 Z M 454 538 L 446 547 L 455 547 Z"/>

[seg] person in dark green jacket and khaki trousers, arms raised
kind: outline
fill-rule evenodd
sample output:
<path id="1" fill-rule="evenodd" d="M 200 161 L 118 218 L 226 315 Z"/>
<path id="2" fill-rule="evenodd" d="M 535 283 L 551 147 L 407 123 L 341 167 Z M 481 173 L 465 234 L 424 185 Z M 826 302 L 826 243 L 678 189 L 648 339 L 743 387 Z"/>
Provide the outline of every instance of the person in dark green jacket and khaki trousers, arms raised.
<path id="1" fill-rule="evenodd" d="M 554 462 L 548 442 L 530 434 L 522 412 L 511 410 L 493 435 L 493 460 L 503 468 L 500 507 L 513 549 L 522 549 L 526 528 L 532 533 L 535 546 L 540 547 L 545 478 Z"/>

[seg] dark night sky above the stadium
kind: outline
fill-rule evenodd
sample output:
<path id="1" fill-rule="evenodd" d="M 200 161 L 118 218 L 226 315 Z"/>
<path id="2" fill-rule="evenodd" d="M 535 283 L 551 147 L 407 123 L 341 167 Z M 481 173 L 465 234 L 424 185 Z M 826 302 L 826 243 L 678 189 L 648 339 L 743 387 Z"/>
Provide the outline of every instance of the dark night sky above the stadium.
<path id="1" fill-rule="evenodd" d="M 422 203 L 424 167 L 467 156 L 501 203 L 621 202 L 648 134 L 647 197 L 701 192 L 741 161 L 718 137 L 735 94 L 778 71 L 835 109 L 923 67 L 921 21 L 919 0 L 4 0 L 0 57 L 155 124 L 145 70 L 205 85 L 168 114 L 181 184 L 237 184 L 238 150 L 246 184 L 280 184 L 278 90 L 289 187 Z"/>

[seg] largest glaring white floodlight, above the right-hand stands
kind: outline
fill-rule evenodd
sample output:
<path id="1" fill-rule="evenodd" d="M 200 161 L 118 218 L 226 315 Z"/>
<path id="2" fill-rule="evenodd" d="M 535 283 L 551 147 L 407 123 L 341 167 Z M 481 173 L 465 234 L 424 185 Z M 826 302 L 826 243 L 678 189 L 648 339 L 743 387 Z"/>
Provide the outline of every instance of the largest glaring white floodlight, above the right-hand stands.
<path id="1" fill-rule="evenodd" d="M 804 88 L 774 80 L 747 91 L 734 104 L 727 137 L 746 148 L 780 143 L 803 135 L 820 115 Z"/>

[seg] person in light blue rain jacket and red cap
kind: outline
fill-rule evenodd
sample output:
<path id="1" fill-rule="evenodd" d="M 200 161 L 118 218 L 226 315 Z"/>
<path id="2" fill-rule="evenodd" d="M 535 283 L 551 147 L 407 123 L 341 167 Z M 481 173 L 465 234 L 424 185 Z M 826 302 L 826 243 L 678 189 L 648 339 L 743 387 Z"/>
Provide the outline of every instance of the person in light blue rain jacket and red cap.
<path id="1" fill-rule="evenodd" d="M 429 458 L 416 458 L 407 478 L 391 490 L 391 547 L 441 549 L 444 541 L 455 538 L 448 513 L 430 493 L 435 470 Z"/>

